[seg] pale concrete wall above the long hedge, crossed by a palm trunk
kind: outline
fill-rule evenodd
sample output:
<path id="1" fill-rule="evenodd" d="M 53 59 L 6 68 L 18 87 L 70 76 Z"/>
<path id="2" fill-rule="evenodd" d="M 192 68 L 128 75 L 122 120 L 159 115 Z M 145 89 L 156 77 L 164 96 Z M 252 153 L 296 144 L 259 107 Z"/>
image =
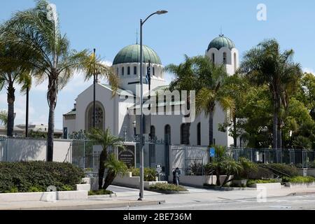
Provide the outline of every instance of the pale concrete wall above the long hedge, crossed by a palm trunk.
<path id="1" fill-rule="evenodd" d="M 8 155 L 3 155 L 8 162 L 45 161 L 47 141 L 36 139 L 8 139 Z M 71 162 L 71 141 L 55 139 L 54 162 Z"/>

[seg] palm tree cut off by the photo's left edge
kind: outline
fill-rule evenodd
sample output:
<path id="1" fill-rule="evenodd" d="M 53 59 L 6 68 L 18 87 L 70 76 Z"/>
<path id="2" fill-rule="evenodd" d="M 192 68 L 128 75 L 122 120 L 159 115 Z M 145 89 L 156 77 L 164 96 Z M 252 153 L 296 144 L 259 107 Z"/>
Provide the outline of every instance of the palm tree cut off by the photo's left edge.
<path id="1" fill-rule="evenodd" d="M 25 92 L 29 84 L 28 53 L 18 50 L 6 41 L 6 36 L 0 36 L 0 90 L 6 87 L 8 114 L 6 116 L 7 136 L 13 137 L 15 85 L 22 85 L 21 92 Z"/>

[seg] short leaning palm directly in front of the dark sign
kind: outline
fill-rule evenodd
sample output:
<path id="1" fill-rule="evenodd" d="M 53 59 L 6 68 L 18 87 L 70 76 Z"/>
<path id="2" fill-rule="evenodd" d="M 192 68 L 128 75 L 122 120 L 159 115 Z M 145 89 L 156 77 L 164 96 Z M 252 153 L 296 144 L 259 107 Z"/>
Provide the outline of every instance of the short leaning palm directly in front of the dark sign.
<path id="1" fill-rule="evenodd" d="M 104 181 L 104 190 L 106 190 L 111 185 L 111 183 L 113 183 L 113 180 L 118 175 L 118 173 L 123 175 L 127 171 L 127 165 L 125 165 L 124 162 L 117 160 L 116 155 L 113 153 L 110 154 L 109 158 L 106 160 L 105 168 L 108 169 L 108 172 Z"/>

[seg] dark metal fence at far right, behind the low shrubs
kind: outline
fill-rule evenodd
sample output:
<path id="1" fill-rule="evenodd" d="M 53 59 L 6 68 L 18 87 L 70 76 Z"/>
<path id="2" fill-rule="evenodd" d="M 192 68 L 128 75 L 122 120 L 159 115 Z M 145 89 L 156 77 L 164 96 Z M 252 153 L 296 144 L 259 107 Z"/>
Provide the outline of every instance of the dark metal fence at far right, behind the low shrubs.
<path id="1" fill-rule="evenodd" d="M 279 163 L 309 168 L 315 165 L 315 151 L 302 149 L 228 148 L 227 155 L 235 160 L 247 158 L 255 163 Z"/>

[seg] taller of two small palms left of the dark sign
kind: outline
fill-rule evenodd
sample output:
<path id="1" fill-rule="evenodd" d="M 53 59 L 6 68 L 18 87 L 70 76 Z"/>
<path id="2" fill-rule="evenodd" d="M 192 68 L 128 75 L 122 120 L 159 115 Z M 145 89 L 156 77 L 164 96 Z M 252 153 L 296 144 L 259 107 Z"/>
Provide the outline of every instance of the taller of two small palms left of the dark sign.
<path id="1" fill-rule="evenodd" d="M 105 132 L 99 129 L 92 129 L 87 133 L 87 139 L 95 141 L 102 146 L 102 153 L 99 155 L 99 189 L 104 188 L 103 178 L 105 172 L 105 162 L 108 160 L 109 148 L 123 148 L 123 139 L 113 136 L 111 130 L 107 129 Z"/>

